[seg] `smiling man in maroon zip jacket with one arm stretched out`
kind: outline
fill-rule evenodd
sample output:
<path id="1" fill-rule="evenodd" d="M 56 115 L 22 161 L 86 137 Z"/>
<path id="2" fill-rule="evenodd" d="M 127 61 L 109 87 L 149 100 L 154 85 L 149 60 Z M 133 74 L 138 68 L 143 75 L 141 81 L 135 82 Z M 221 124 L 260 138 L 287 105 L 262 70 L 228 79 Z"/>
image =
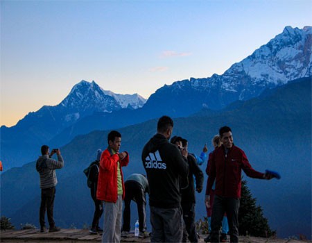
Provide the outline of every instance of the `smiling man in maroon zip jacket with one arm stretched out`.
<path id="1" fill-rule="evenodd" d="M 211 242 L 219 242 L 219 229 L 223 215 L 227 213 L 229 223 L 230 242 L 239 242 L 239 199 L 241 197 L 241 170 L 252 178 L 271 179 L 270 174 L 263 174 L 255 171 L 246 157 L 243 150 L 233 144 L 232 130 L 223 126 L 219 130 L 221 142 L 218 149 L 215 149 L 209 157 L 209 177 L 207 183 L 206 197 L 214 181 L 216 189 L 214 206 L 211 215 Z"/>

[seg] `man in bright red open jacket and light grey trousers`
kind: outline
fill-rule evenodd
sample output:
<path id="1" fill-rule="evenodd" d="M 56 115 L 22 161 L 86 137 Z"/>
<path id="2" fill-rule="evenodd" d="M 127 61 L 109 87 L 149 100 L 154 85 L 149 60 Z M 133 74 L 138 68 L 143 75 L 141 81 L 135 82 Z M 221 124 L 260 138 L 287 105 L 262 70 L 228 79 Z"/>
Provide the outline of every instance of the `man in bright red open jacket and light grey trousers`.
<path id="1" fill-rule="evenodd" d="M 119 153 L 121 134 L 111 131 L 107 136 L 108 146 L 103 151 L 98 172 L 96 198 L 103 201 L 104 227 L 102 242 L 120 242 L 121 215 L 125 185 L 121 167 L 129 162 L 128 152 Z"/>

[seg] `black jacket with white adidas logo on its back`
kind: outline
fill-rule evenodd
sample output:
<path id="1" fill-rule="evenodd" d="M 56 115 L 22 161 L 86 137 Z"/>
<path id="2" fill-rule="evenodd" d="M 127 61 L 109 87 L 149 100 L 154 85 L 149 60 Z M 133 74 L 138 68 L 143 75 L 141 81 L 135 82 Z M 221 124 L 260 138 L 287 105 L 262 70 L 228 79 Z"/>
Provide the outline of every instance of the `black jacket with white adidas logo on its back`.
<path id="1" fill-rule="evenodd" d="M 144 146 L 141 158 L 150 187 L 150 206 L 179 208 L 180 179 L 187 178 L 189 172 L 187 159 L 158 133 Z"/>

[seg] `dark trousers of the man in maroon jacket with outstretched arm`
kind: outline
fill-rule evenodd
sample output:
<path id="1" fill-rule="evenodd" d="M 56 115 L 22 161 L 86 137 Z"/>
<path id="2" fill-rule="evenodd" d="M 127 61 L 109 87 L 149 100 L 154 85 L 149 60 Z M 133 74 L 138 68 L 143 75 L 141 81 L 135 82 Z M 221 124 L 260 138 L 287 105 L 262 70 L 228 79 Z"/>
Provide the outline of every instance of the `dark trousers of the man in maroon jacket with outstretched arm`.
<path id="1" fill-rule="evenodd" d="M 219 242 L 219 231 L 224 213 L 227 213 L 230 242 L 239 242 L 239 199 L 214 196 L 211 215 L 211 242 Z"/>

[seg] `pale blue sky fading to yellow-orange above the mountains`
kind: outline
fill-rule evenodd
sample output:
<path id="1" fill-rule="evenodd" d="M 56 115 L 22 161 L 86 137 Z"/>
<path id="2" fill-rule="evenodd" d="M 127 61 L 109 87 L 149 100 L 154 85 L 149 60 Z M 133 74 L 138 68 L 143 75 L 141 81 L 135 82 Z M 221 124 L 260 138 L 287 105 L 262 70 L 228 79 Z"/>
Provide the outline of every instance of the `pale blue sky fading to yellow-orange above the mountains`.
<path id="1" fill-rule="evenodd" d="M 3 1 L 1 120 L 55 106 L 81 80 L 148 98 L 164 84 L 223 74 L 312 1 Z"/>

